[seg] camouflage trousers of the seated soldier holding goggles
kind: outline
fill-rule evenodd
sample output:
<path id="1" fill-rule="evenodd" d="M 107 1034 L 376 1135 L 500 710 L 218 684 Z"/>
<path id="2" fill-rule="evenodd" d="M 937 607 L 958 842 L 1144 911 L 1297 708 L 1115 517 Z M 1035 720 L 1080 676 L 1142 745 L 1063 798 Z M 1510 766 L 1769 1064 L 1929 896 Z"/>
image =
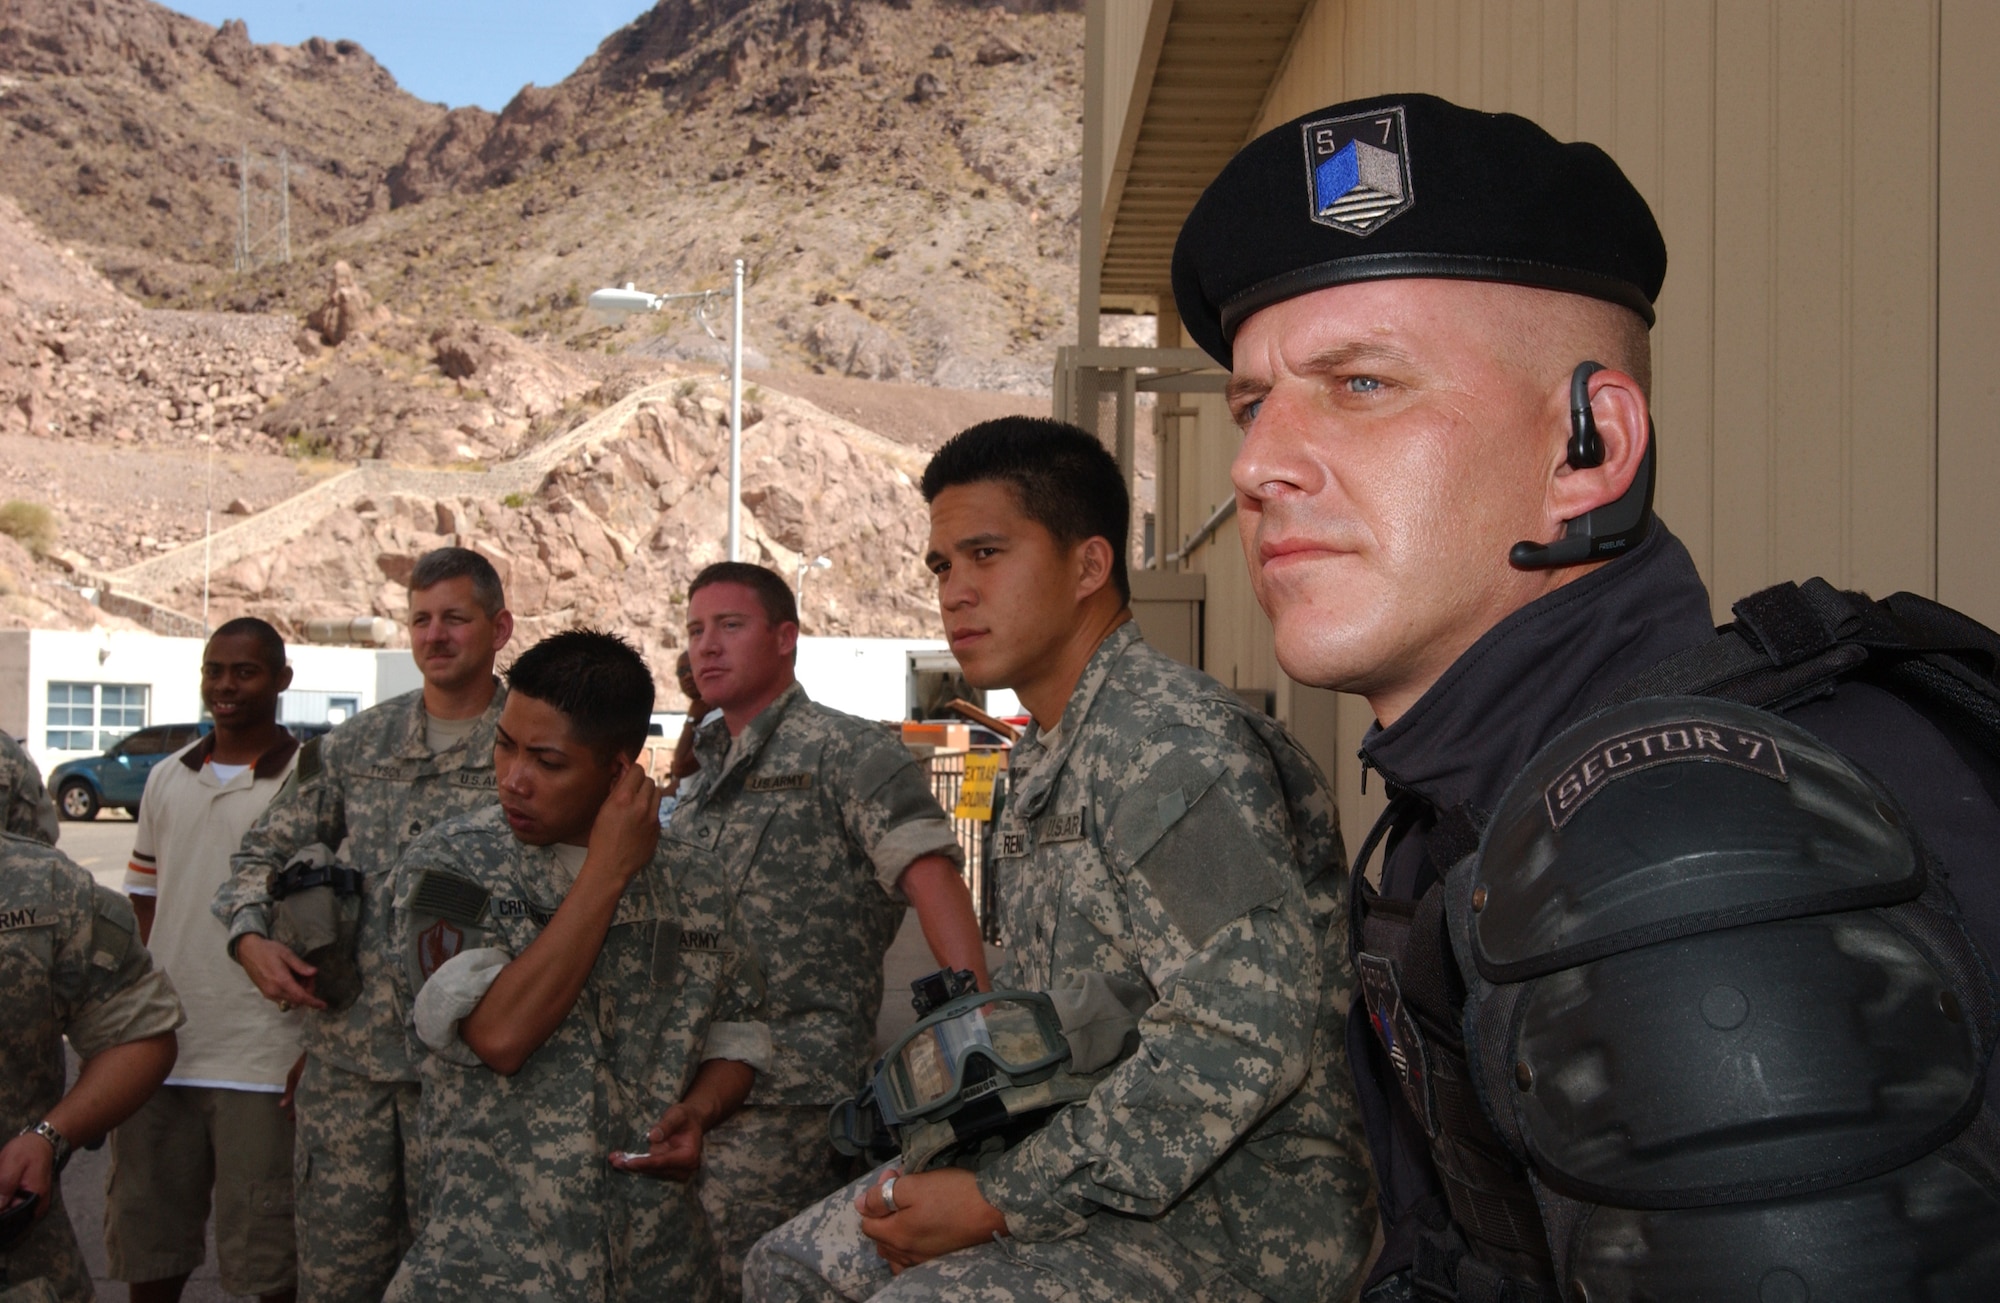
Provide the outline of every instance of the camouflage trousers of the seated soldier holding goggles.
<path id="1" fill-rule="evenodd" d="M 854 1197 L 876 1173 L 828 1195 L 758 1241 L 744 1263 L 748 1303 L 1100 1303 L 1172 1299 L 1236 1303 L 1258 1295 L 1212 1263 L 1196 1259 L 1160 1227 L 1138 1217 L 1092 1217 L 1074 1239 L 1024 1245 L 1014 1239 L 958 1249 L 890 1275 L 862 1235 Z"/>

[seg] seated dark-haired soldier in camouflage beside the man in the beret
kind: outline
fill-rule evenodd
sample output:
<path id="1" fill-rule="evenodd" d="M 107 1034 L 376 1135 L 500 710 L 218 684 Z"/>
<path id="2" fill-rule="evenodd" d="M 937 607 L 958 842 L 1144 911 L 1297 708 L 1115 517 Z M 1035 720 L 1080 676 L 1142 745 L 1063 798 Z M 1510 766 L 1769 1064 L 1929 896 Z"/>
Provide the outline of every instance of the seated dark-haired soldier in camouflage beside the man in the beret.
<path id="1" fill-rule="evenodd" d="M 1342 1297 L 1370 1181 L 1338 1063 L 1346 855 L 1318 767 L 1140 640 L 1110 544 L 1124 482 L 1096 440 L 976 426 L 924 496 L 952 650 L 1036 719 L 994 833 L 998 985 L 1094 973 L 1154 1003 L 1088 1099 L 976 1173 L 886 1169 L 808 1209 L 752 1251 L 748 1297 Z"/>

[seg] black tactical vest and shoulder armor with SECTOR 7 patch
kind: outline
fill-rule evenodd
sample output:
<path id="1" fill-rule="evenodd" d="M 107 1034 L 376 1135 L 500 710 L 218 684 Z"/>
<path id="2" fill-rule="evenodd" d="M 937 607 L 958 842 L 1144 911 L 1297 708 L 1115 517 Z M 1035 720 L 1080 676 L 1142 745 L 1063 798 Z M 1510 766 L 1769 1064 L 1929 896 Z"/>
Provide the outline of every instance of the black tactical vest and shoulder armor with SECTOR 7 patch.
<path id="1" fill-rule="evenodd" d="M 1418 1297 L 2000 1279 L 2000 983 L 1890 793 L 1756 709 L 1874 681 L 1994 757 L 2000 636 L 1818 580 L 1734 614 L 1544 747 L 1484 827 L 1434 829 L 1454 867 L 1420 899 L 1364 881 L 1406 805 L 1356 859 L 1368 1021 L 1446 1205 L 1418 1209 Z"/>

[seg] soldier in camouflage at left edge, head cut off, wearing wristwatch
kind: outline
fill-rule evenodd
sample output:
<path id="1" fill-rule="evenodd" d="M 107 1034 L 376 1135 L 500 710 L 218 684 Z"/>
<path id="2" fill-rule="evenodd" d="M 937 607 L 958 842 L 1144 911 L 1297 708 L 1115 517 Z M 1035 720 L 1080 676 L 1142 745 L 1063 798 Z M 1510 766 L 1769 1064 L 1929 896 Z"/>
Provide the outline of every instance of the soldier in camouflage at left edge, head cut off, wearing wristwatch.
<path id="1" fill-rule="evenodd" d="M 40 1221 L 0 1251 L 0 1301 L 90 1299 L 56 1177 L 72 1145 L 102 1139 L 166 1079 L 180 1001 L 126 897 L 12 833 L 0 833 L 0 1209 L 22 1189 L 42 1195 Z M 62 1037 L 84 1059 L 68 1095 Z"/>

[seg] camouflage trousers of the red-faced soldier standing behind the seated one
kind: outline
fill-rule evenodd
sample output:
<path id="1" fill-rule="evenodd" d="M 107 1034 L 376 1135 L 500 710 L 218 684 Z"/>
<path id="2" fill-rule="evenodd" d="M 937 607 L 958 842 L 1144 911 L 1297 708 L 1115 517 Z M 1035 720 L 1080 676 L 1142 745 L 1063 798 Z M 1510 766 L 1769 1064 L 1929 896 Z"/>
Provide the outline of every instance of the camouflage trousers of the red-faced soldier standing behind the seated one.
<path id="1" fill-rule="evenodd" d="M 826 1139 L 826 1109 L 820 1105 L 742 1109 L 702 1137 L 694 1193 L 708 1213 L 722 1283 L 732 1299 L 742 1287 L 750 1245 L 840 1189 L 846 1175 L 846 1161 Z"/>

